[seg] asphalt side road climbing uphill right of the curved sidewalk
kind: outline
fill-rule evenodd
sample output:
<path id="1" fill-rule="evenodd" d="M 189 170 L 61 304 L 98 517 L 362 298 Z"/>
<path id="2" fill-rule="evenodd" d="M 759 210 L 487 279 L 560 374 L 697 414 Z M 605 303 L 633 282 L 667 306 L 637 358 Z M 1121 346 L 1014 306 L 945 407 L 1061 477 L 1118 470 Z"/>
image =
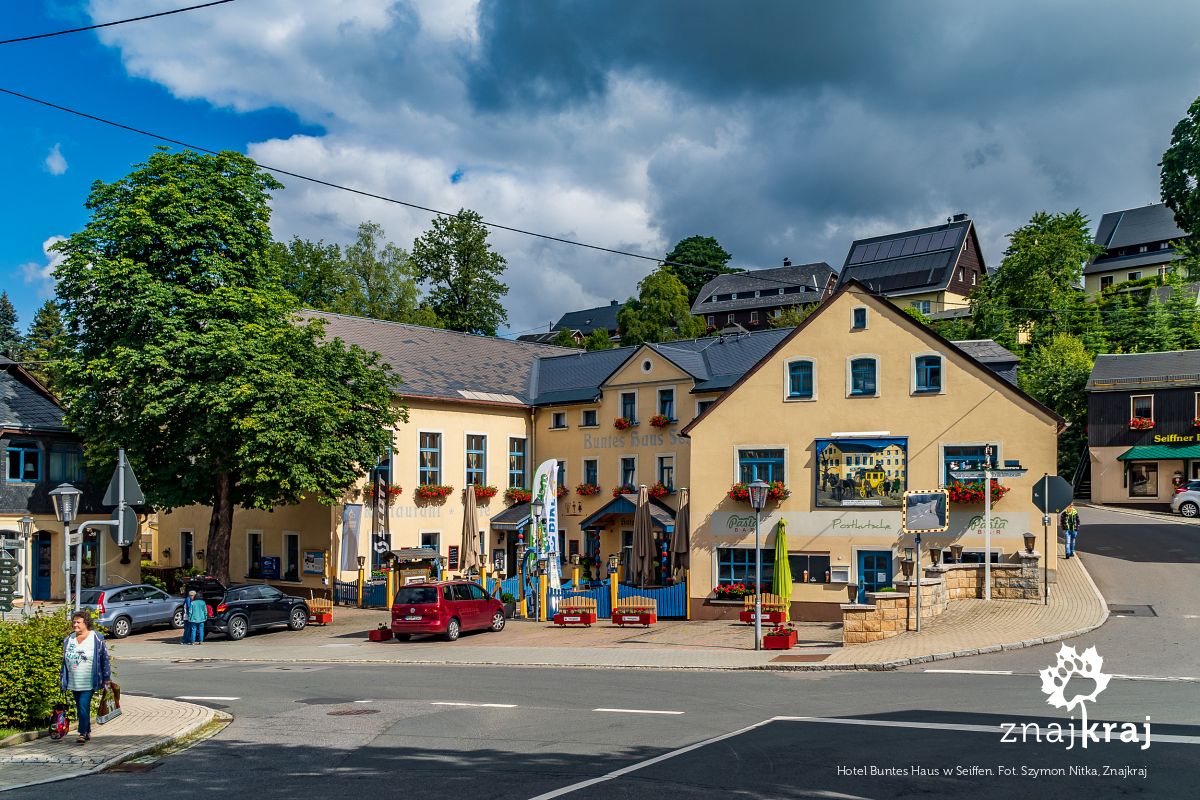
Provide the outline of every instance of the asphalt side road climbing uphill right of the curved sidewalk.
<path id="1" fill-rule="evenodd" d="M 1094 645 L 1109 673 L 1200 679 L 1200 523 L 1106 509 L 1081 509 L 1080 521 L 1079 558 L 1112 615 L 1068 644 Z M 1057 650 L 1048 644 L 944 666 L 1036 674 Z"/>

